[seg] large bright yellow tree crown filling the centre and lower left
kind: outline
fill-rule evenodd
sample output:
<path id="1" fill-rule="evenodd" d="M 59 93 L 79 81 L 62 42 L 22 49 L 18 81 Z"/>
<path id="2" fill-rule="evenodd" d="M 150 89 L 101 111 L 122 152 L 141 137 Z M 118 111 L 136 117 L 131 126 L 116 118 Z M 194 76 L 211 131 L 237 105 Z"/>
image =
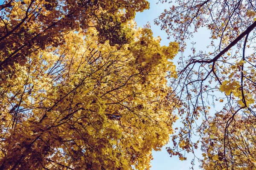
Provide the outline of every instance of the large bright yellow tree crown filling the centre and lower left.
<path id="1" fill-rule="evenodd" d="M 177 119 L 166 79 L 176 76 L 168 59 L 178 46 L 161 47 L 149 28 L 127 22 L 124 45 L 78 29 L 9 66 L 0 88 L 1 170 L 150 167 Z"/>

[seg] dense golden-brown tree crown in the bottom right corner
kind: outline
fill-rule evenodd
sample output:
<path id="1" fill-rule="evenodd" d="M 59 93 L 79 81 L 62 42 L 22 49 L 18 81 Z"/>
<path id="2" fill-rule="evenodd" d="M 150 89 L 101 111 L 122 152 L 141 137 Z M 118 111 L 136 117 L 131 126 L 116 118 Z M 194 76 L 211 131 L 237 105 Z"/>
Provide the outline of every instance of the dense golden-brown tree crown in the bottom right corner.
<path id="1" fill-rule="evenodd" d="M 223 119 L 229 119 L 229 116 L 215 119 L 215 122 L 209 124 L 209 129 L 204 132 L 206 134 L 202 138 L 204 159 L 201 160 L 201 165 L 205 170 L 253 170 L 256 168 L 255 119 L 236 116 L 235 121 L 226 127 L 221 122 Z M 228 137 L 225 137 L 224 134 L 227 132 Z M 224 147 L 224 142 L 227 142 L 229 147 Z"/>

